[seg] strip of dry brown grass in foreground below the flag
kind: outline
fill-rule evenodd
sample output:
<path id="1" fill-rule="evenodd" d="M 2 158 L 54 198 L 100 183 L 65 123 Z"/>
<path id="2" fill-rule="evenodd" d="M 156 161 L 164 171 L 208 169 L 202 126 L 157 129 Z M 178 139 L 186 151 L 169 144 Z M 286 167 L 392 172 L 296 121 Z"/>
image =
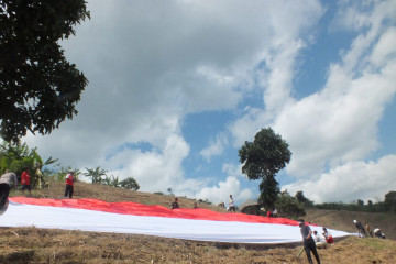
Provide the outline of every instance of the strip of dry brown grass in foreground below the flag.
<path id="1" fill-rule="evenodd" d="M 300 246 L 224 246 L 146 235 L 0 230 L 0 263 L 306 263 Z M 319 250 L 322 263 L 396 263 L 396 242 L 348 238 Z"/>

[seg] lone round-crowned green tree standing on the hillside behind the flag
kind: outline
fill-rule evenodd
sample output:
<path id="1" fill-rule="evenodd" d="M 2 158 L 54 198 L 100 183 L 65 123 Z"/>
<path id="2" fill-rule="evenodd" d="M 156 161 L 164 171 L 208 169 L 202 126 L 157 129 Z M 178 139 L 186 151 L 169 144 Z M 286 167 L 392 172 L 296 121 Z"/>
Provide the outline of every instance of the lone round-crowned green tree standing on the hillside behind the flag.
<path id="1" fill-rule="evenodd" d="M 258 201 L 273 208 L 279 194 L 275 175 L 290 162 L 292 152 L 280 135 L 271 128 L 258 131 L 253 142 L 245 141 L 239 150 L 242 173 L 249 179 L 262 179 Z"/>

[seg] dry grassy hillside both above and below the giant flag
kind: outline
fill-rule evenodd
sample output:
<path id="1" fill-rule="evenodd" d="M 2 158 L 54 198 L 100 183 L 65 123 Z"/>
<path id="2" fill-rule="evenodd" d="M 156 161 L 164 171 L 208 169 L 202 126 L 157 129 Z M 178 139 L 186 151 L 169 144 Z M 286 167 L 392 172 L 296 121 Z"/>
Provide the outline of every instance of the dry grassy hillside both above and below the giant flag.
<path id="1" fill-rule="evenodd" d="M 77 183 L 75 198 L 97 198 L 107 201 L 135 201 L 168 207 L 173 197 L 131 191 L 108 186 Z M 33 196 L 62 198 L 64 184 L 52 184 L 50 189 L 34 190 Z M 12 196 L 19 196 L 13 191 Z M 193 207 L 194 200 L 179 198 L 182 207 Z M 215 206 L 200 207 L 221 211 Z M 354 232 L 353 219 L 378 223 L 392 222 L 394 216 L 310 210 L 307 221 L 333 229 Z M 1 220 L 1 219 L 0 219 Z M 373 221 L 373 222 L 372 222 Z M 381 223 L 381 224 L 380 224 Z M 391 226 L 392 226 L 391 224 Z M 391 227 L 389 227 L 391 228 Z M 393 226 L 393 229 L 395 227 Z M 391 228 L 392 229 L 392 228 Z M 393 230 L 394 231 L 394 230 Z M 0 229 L 0 263 L 307 263 L 297 256 L 300 244 L 243 245 L 204 243 L 146 235 L 95 233 L 35 228 Z M 319 250 L 322 263 L 396 263 L 396 241 L 350 237 L 326 250 Z"/>

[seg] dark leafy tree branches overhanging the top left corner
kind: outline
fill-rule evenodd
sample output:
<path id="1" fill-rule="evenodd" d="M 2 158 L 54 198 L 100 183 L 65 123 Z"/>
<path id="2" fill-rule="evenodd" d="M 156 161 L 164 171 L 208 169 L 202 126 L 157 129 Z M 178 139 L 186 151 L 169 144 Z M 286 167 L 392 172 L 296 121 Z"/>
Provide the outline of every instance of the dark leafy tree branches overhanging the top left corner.
<path id="1" fill-rule="evenodd" d="M 0 136 L 51 133 L 77 114 L 88 80 L 58 42 L 89 18 L 84 0 L 0 1 Z"/>

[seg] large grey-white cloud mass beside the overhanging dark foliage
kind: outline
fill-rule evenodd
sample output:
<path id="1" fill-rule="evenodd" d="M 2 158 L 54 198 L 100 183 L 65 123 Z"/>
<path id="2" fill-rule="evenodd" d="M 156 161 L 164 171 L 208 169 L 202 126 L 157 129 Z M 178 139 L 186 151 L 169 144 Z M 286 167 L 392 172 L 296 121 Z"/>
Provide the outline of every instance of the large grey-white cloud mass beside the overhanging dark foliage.
<path id="1" fill-rule="evenodd" d="M 252 68 L 265 56 L 273 65 L 292 62 L 301 45 L 298 34 L 322 12 L 317 1 L 157 1 L 155 7 L 90 1 L 88 10 L 91 20 L 63 42 L 68 59 L 90 81 L 79 114 L 51 135 L 26 141 L 65 165 L 132 175 L 143 190 L 188 182 L 182 162 L 189 143 L 180 120 L 191 112 L 234 109 L 252 89 Z M 271 54 L 274 48 L 277 54 Z M 282 86 L 283 75 L 277 72 L 270 82 Z M 183 142 L 174 143 L 175 152 L 167 148 L 169 139 Z M 124 150 L 106 160 L 114 147 L 139 142 L 153 150 Z M 220 154 L 226 143 L 219 135 L 202 154 Z"/>

